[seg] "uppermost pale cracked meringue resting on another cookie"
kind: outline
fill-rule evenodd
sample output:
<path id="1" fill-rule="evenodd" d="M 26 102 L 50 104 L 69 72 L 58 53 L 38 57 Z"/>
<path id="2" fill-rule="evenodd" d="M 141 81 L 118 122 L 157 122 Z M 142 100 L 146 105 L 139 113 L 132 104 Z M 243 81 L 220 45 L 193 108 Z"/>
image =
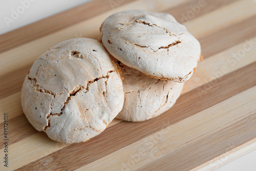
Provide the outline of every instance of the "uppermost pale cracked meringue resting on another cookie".
<path id="1" fill-rule="evenodd" d="M 123 11 L 106 18 L 100 31 L 111 55 L 150 77 L 187 81 L 201 58 L 199 41 L 169 14 Z"/>

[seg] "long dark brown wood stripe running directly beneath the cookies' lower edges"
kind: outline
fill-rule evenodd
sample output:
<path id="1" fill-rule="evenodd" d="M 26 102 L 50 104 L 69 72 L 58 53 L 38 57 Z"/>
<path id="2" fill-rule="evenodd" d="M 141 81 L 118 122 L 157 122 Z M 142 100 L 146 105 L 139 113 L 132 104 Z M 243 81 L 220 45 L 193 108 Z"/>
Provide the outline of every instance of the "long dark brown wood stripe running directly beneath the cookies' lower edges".
<path id="1" fill-rule="evenodd" d="M 256 86 L 255 68 L 256 62 L 181 95 L 173 108 L 159 117 L 144 122 L 122 121 L 86 143 L 71 144 L 18 170 L 73 170 L 87 165 Z"/>

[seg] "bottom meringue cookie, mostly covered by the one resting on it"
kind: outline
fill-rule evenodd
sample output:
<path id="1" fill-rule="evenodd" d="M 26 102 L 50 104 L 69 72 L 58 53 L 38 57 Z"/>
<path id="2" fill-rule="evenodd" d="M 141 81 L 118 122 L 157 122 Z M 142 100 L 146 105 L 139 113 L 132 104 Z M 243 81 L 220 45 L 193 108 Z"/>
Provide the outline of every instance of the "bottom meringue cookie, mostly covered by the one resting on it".
<path id="1" fill-rule="evenodd" d="M 183 82 L 148 77 L 119 64 L 123 79 L 124 104 L 117 119 L 139 122 L 169 110 L 179 98 Z"/>

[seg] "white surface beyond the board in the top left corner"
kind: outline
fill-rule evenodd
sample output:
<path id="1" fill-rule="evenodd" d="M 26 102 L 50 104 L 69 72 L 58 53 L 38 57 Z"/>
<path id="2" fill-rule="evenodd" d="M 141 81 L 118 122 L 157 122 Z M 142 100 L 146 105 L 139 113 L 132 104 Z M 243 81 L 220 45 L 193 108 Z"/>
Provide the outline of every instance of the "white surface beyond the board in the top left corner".
<path id="1" fill-rule="evenodd" d="M 89 1 L 92 0 L 0 0 L 0 34 L 26 26 L 42 18 L 49 17 Z M 27 8 L 22 7 L 24 6 L 22 4 L 25 4 Z M 13 14 L 15 19 L 8 26 L 5 20 L 8 20 L 7 17 L 12 19 L 13 10 L 20 12 L 20 14 L 18 13 L 19 16 Z"/>

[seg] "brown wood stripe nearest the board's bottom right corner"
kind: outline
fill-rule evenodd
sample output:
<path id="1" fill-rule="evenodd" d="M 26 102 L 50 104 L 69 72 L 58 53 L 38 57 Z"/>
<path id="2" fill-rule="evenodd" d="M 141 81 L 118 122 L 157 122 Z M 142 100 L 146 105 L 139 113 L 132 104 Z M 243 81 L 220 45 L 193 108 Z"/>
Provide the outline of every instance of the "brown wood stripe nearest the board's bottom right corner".
<path id="1" fill-rule="evenodd" d="M 254 138 L 256 138 L 256 113 L 138 170 L 190 170 Z M 195 156 L 195 150 L 200 155 Z"/>

